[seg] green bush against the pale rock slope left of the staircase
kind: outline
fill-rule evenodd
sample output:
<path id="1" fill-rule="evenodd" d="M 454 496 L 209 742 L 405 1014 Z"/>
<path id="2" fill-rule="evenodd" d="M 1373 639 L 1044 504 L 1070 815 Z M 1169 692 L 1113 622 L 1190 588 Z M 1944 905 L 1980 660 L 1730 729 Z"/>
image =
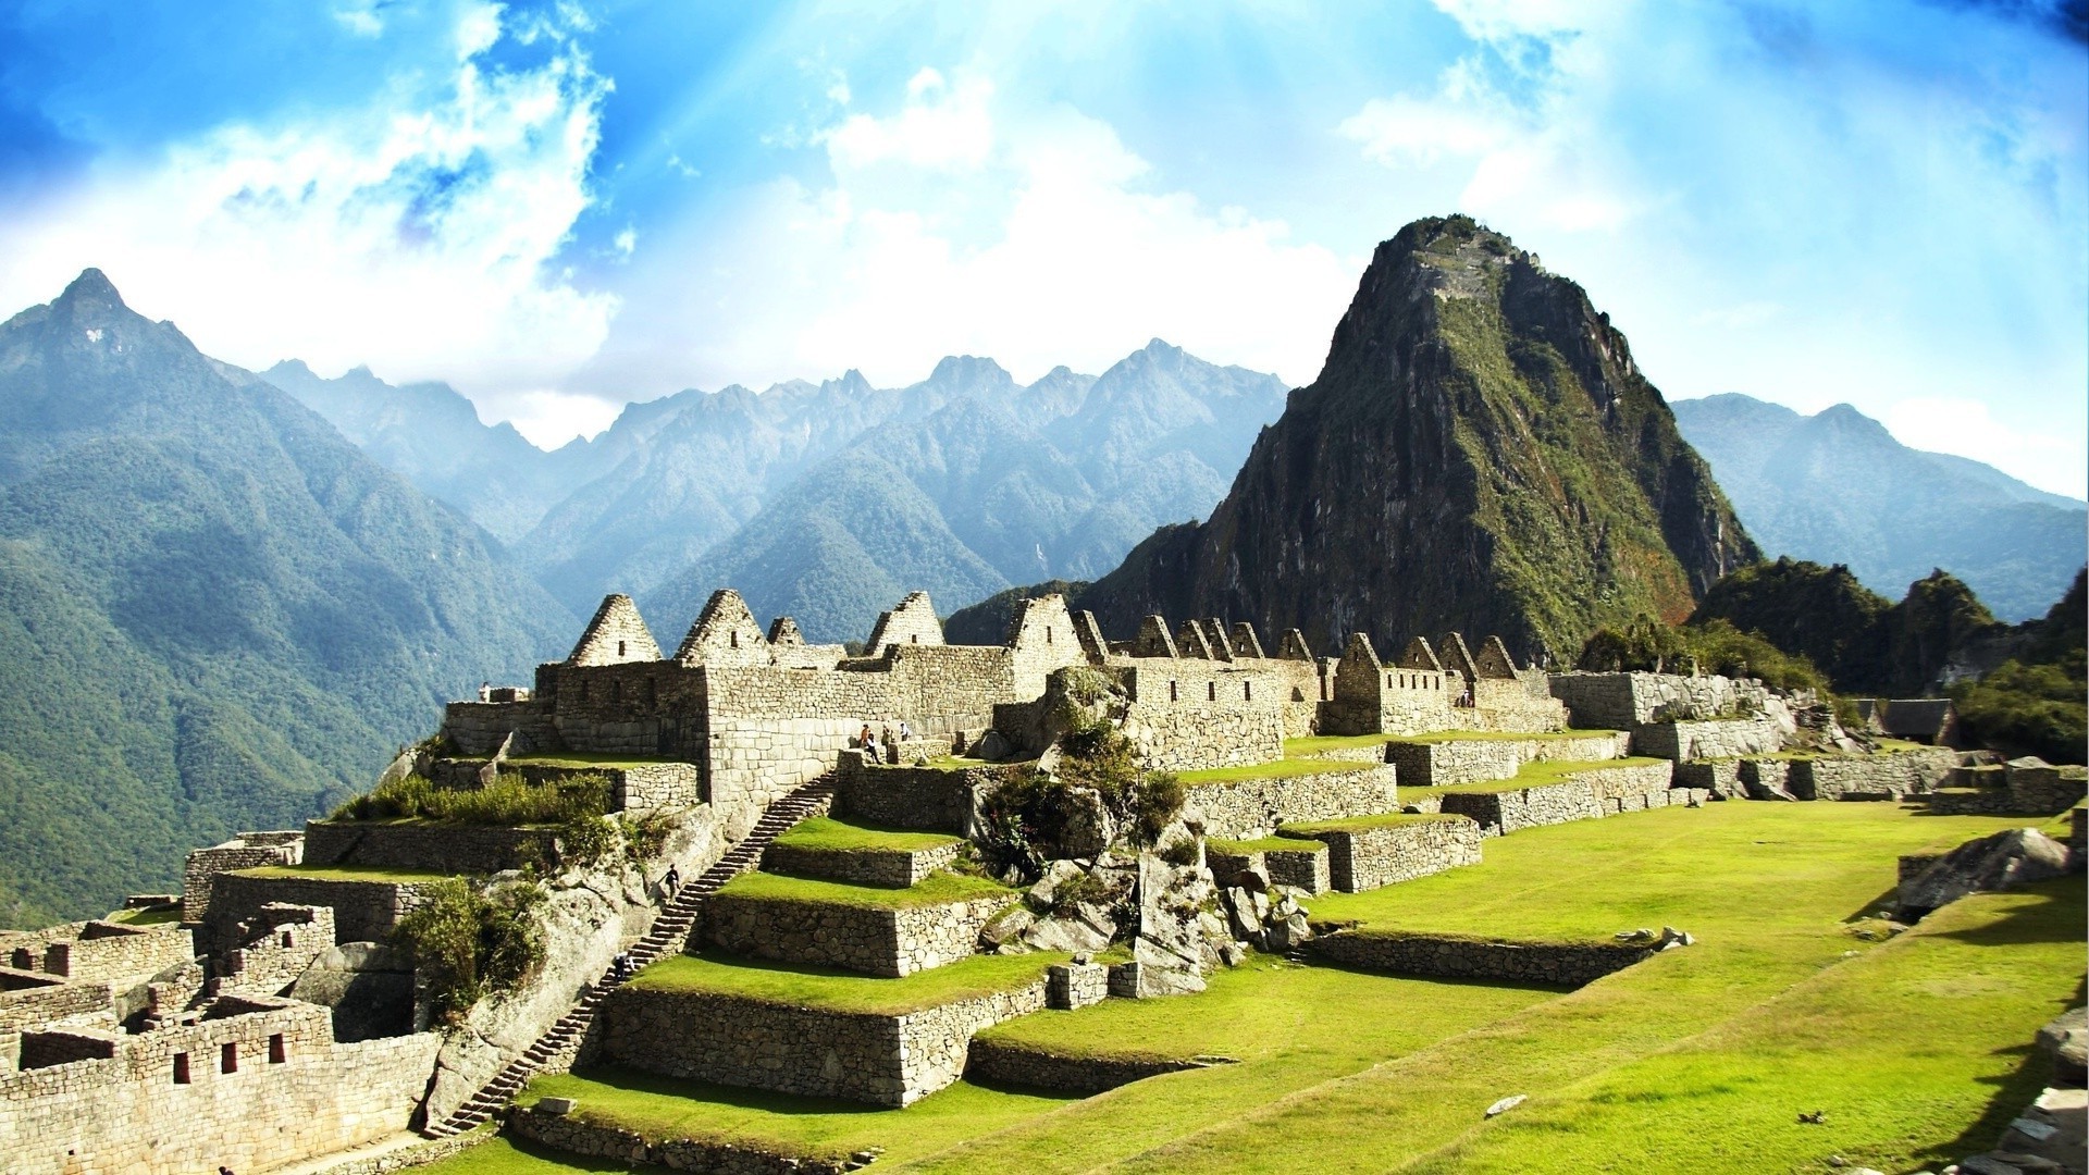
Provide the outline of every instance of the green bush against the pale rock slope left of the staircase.
<path id="1" fill-rule="evenodd" d="M 543 966 L 541 884 L 510 880 L 480 889 L 466 878 L 443 878 L 424 886 L 420 899 L 395 935 L 414 953 L 414 974 L 443 1024 L 460 1022 L 489 995 L 514 991 Z"/>

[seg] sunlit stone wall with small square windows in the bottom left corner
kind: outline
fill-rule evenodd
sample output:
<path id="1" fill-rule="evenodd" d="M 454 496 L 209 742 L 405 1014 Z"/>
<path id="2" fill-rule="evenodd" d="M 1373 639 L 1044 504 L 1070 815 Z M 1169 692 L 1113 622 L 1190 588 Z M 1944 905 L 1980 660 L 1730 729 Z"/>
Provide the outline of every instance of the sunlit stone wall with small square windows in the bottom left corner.
<path id="1" fill-rule="evenodd" d="M 236 1008 L 251 1010 L 117 1037 L 109 1058 L 0 1075 L 6 1171 L 261 1171 L 407 1129 L 439 1037 L 343 1045 L 326 1008 Z"/>

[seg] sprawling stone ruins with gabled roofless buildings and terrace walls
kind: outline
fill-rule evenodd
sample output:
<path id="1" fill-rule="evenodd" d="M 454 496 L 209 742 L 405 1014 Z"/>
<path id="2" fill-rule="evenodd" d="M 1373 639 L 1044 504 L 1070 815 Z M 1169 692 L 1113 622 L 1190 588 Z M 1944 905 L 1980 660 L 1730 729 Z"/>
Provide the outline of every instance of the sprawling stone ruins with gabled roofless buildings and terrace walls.
<path id="1" fill-rule="evenodd" d="M 190 853 L 165 922 L 0 935 L 0 1152 L 25 1156 L 10 1171 L 52 1175 L 261 1169 L 405 1129 L 443 1133 L 435 1127 L 480 1104 L 483 1087 L 512 1091 L 489 1085 L 497 1075 L 577 1060 L 882 1106 L 969 1066 L 1095 1091 L 1147 1073 L 1042 1073 L 1034 1058 L 971 1050 L 971 1035 L 1036 1008 L 1197 991 L 1253 949 L 1586 983 L 1652 947 L 1314 939 L 1304 903 L 1477 863 L 1489 836 L 1542 824 L 1721 799 L 1926 794 L 1974 769 L 1949 748 L 1780 755 L 1813 736 L 1794 713 L 1811 698 L 1757 682 L 1548 675 L 1492 636 L 1477 646 L 1414 636 L 1389 661 L 1366 633 L 1339 656 L 1316 656 L 1297 629 L 1272 636 L 1153 615 L 1109 640 L 1093 615 L 1040 596 L 1019 602 L 1003 644 L 953 646 L 928 594 L 913 592 L 850 654 L 806 644 L 790 617 L 760 625 L 725 590 L 664 654 L 637 606 L 610 596 L 564 661 L 539 665 L 529 686 L 451 702 L 437 738 L 386 778 L 476 788 L 503 774 L 541 784 L 593 771 L 608 780 L 604 817 L 664 822 L 648 859 L 589 872 L 547 828 L 313 820 Z M 1128 840 L 1090 797 L 1088 824 L 1070 832 L 1088 840 L 1036 874 L 1001 876 L 1007 889 L 982 878 L 959 897 L 882 907 L 733 884 L 668 901 L 654 880 L 668 863 L 725 880 L 740 868 L 729 853 L 760 847 L 750 859 L 765 872 L 911 891 L 978 855 L 1003 788 L 1063 767 L 1076 719 L 1124 738 L 1141 769 L 1189 776 L 1155 840 Z M 1306 736 L 1356 738 L 1304 744 L 1318 746 L 1297 751 L 1320 759 L 1312 771 L 1255 771 Z M 1640 759 L 1611 763 L 1627 755 Z M 1577 767 L 1517 782 L 1548 759 Z M 1959 780 L 1972 799 L 1953 803 L 2081 799 L 2076 774 L 2041 767 L 1997 767 L 2005 786 Z M 775 840 L 785 809 L 831 813 L 863 847 Z M 877 830 L 892 828 L 940 840 L 884 845 Z M 447 1033 L 426 1031 L 412 960 L 389 947 L 422 901 L 418 878 L 435 874 L 554 882 L 543 972 Z M 597 983 L 618 949 L 660 939 L 671 909 L 694 918 L 666 953 L 687 943 L 894 983 L 976 953 L 1065 962 L 1030 985 L 890 1016 Z M 583 1004 L 587 991 L 608 997 Z M 566 1022 L 585 1031 L 547 1043 Z M 570 1150 L 631 1152 L 554 1112 L 514 1114 L 510 1127 Z"/>

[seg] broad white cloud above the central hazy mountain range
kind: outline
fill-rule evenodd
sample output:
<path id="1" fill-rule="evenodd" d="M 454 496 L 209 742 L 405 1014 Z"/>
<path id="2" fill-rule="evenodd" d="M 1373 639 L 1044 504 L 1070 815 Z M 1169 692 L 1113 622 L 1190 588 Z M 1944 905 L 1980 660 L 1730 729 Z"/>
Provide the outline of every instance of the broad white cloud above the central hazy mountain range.
<path id="1" fill-rule="evenodd" d="M 861 368 L 896 385 L 946 353 L 1036 378 L 1151 337 L 1308 383 L 1362 266 L 1166 190 L 1107 123 L 1011 109 L 963 71 L 921 71 L 898 109 L 850 113 L 819 142 L 829 186 L 767 184 L 648 251 L 681 261 L 652 263 L 585 383 L 631 395 L 656 372 L 762 387 Z"/>

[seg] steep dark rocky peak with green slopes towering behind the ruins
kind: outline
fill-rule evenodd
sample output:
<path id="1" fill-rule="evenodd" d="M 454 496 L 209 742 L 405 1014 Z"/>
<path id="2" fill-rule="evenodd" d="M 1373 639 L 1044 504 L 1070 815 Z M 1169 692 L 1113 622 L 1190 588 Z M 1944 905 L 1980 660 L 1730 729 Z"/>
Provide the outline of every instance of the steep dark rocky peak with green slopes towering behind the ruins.
<path id="1" fill-rule="evenodd" d="M 1082 602 L 1349 631 L 1381 648 L 1498 631 L 1571 654 L 1638 613 L 1682 621 L 1757 558 L 1625 337 L 1581 286 L 1469 217 L 1383 243 L 1327 366 L 1233 491 L 1141 544 Z"/>

